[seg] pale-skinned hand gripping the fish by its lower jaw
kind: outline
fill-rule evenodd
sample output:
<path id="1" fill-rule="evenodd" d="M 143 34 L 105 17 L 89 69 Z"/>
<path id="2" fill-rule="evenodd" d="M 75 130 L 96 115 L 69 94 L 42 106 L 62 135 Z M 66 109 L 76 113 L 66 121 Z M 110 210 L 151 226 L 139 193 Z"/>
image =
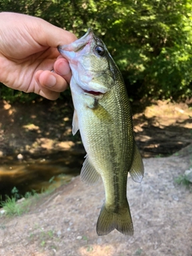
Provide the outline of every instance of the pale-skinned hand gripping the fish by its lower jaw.
<path id="1" fill-rule="evenodd" d="M 0 82 L 57 99 L 71 78 L 69 63 L 57 47 L 74 42 L 76 36 L 25 14 L 0 13 L 0 24 Z"/>

